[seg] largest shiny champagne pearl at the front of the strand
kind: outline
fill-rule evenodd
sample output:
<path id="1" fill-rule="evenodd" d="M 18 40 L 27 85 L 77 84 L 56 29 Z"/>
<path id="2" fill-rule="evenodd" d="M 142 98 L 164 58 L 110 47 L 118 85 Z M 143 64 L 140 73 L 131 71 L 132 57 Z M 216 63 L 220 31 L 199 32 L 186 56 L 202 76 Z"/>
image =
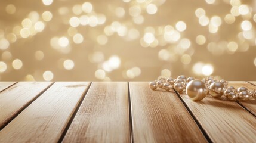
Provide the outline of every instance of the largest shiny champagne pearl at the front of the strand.
<path id="1" fill-rule="evenodd" d="M 207 87 L 201 80 L 195 79 L 190 81 L 186 87 L 186 94 L 193 101 L 200 101 L 206 97 Z"/>

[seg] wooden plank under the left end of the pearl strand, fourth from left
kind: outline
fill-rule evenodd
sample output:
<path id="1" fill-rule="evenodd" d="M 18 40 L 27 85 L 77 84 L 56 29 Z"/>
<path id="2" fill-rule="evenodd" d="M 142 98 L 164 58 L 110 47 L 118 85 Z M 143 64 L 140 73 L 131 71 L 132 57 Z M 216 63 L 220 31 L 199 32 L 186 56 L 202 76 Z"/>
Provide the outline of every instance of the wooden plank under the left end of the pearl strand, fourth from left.
<path id="1" fill-rule="evenodd" d="M 134 142 L 207 142 L 174 91 L 129 82 Z"/>

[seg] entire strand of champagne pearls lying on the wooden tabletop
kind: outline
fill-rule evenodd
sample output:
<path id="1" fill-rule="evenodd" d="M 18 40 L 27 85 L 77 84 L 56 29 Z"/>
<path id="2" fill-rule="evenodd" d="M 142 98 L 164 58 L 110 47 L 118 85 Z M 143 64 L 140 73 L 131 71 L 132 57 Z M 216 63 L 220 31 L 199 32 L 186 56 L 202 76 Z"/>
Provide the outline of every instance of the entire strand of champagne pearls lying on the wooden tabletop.
<path id="1" fill-rule="evenodd" d="M 256 99 L 256 89 L 249 91 L 245 87 L 235 89 L 233 86 L 228 86 L 226 80 L 216 80 L 214 77 L 209 76 L 202 80 L 195 79 L 194 77 L 187 78 L 184 75 L 178 76 L 177 79 L 169 77 L 168 79 L 161 78 L 149 83 L 152 90 L 157 88 L 165 89 L 165 91 L 174 88 L 175 91 L 181 93 L 186 90 L 186 94 L 193 101 L 200 101 L 210 94 L 212 97 L 224 96 L 229 101 L 242 100 L 247 101 L 249 98 Z"/>

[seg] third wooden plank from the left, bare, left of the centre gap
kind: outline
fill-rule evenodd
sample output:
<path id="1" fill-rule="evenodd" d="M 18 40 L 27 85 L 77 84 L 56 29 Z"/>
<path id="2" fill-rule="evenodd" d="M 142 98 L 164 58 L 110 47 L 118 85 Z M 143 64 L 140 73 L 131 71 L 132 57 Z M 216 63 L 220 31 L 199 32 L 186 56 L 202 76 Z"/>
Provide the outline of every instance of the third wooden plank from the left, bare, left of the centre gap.
<path id="1" fill-rule="evenodd" d="M 63 142 L 130 142 L 127 82 L 93 82 Z"/>

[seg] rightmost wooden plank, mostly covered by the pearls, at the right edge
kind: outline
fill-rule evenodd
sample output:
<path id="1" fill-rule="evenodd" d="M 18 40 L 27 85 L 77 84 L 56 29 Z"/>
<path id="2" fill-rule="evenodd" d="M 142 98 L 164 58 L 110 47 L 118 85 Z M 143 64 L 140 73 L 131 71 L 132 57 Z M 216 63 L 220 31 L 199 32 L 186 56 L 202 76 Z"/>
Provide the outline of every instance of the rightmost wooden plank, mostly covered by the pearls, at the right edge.
<path id="1" fill-rule="evenodd" d="M 248 82 L 229 82 L 229 86 L 234 86 L 236 89 L 243 86 L 248 88 L 250 91 L 253 89 L 256 89 L 254 85 L 251 85 Z M 250 99 L 248 101 L 238 101 L 238 102 L 256 116 L 256 100 L 255 99 Z"/>

